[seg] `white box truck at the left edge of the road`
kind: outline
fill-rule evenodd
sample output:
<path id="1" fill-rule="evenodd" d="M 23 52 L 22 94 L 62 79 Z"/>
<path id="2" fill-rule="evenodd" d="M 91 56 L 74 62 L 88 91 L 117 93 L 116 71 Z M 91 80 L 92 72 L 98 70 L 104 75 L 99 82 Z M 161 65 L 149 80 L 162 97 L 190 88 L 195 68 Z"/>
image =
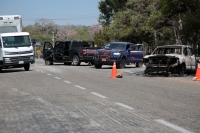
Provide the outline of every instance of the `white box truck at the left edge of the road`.
<path id="1" fill-rule="evenodd" d="M 21 31 L 20 15 L 0 16 L 0 72 L 17 67 L 28 71 L 30 64 L 35 63 L 30 35 Z"/>

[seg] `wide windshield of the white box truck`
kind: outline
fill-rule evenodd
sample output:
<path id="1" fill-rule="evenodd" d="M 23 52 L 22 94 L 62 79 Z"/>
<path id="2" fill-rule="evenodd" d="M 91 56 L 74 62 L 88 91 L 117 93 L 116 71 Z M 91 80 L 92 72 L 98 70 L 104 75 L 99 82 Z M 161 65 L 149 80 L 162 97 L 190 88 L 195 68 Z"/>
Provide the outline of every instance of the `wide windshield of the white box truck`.
<path id="1" fill-rule="evenodd" d="M 26 47 L 31 46 L 29 36 L 8 36 L 3 37 L 3 47 Z"/>

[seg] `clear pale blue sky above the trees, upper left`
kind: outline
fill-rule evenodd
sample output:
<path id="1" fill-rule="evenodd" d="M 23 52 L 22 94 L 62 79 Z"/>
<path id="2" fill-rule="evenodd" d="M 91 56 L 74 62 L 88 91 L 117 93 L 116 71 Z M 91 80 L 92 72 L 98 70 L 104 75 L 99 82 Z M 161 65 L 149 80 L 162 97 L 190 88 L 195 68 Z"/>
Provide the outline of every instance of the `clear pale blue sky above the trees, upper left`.
<path id="1" fill-rule="evenodd" d="M 21 15 L 22 25 L 34 25 L 41 18 L 58 25 L 98 24 L 101 0 L 0 0 L 1 15 Z"/>

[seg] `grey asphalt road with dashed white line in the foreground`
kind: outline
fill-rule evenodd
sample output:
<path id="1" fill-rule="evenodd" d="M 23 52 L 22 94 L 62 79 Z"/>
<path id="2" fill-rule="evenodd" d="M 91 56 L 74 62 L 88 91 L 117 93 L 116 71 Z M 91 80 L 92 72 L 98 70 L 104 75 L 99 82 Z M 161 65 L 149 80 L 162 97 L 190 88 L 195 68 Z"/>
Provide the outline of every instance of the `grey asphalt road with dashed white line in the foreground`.
<path id="1" fill-rule="evenodd" d="M 0 73 L 0 133 L 199 133 L 200 82 L 36 59 Z"/>

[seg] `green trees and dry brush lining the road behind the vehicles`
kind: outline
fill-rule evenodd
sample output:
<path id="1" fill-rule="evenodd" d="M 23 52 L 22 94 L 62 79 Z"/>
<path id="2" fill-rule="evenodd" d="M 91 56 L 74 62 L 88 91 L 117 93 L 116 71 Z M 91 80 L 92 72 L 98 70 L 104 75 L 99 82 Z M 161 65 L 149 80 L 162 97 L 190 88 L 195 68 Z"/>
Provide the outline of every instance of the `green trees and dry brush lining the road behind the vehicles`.
<path id="1" fill-rule="evenodd" d="M 54 36 L 55 40 L 90 40 L 97 46 L 126 41 L 143 43 L 151 49 L 167 44 L 200 48 L 199 0 L 101 0 L 98 8 L 98 25 L 59 26 L 40 19 L 24 31 L 41 42 Z"/>

